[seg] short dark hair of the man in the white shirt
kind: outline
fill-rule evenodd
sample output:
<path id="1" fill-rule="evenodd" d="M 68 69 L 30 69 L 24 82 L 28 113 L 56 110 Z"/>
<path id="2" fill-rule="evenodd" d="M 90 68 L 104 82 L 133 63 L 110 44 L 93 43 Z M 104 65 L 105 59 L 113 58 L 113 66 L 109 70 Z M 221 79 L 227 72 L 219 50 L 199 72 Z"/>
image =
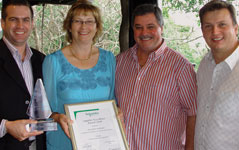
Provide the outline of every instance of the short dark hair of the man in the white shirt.
<path id="1" fill-rule="evenodd" d="M 223 0 L 212 0 L 204 5 L 199 11 L 200 22 L 203 24 L 203 16 L 209 11 L 215 11 L 220 9 L 227 9 L 230 12 L 233 25 L 237 24 L 236 10 L 232 4 Z"/>

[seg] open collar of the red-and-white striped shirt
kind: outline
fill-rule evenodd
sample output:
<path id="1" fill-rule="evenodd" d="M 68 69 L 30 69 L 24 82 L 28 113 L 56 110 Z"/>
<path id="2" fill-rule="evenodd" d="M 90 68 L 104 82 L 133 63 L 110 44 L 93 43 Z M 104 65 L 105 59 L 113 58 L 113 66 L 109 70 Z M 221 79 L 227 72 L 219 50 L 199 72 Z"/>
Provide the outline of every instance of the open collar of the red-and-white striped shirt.
<path id="1" fill-rule="evenodd" d="M 138 44 L 135 44 L 135 45 L 131 48 L 131 51 L 132 51 L 132 53 L 133 53 L 133 57 L 134 57 L 135 59 L 137 59 L 137 49 L 138 49 L 138 47 L 139 47 Z M 165 40 L 163 39 L 163 42 L 162 42 L 161 46 L 160 46 L 157 50 L 153 51 L 153 52 L 149 55 L 149 58 L 152 58 L 152 59 L 154 59 L 154 60 L 158 59 L 158 58 L 164 53 L 164 51 L 166 50 L 166 48 L 167 48 L 167 44 L 166 44 Z"/>

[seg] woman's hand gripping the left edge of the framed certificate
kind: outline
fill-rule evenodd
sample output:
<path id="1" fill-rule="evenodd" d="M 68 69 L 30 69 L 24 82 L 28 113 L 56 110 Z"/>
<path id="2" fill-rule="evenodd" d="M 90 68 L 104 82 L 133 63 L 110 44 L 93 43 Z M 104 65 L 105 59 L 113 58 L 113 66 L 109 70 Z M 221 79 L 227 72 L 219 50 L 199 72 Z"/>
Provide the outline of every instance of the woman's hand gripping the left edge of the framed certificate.
<path id="1" fill-rule="evenodd" d="M 53 113 L 51 118 L 54 119 L 57 123 L 60 124 L 62 130 L 70 138 L 69 125 L 73 123 L 65 114 Z"/>

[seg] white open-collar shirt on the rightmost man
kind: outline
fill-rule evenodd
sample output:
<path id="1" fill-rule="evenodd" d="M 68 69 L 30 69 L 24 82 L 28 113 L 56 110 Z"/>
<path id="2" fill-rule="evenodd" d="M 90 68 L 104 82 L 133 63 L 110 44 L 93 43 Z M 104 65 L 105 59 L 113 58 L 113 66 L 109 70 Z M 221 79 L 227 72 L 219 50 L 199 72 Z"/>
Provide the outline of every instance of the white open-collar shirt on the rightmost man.
<path id="1" fill-rule="evenodd" d="M 239 48 L 216 64 L 209 52 L 197 72 L 195 150 L 239 149 Z"/>

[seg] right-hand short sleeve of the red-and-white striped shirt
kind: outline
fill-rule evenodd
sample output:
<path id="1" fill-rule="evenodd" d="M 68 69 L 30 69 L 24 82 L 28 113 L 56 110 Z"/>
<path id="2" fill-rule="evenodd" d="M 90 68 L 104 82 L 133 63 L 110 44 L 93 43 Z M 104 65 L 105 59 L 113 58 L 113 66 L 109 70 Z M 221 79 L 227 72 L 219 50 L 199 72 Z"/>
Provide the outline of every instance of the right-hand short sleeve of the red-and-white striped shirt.
<path id="1" fill-rule="evenodd" d="M 178 84 L 179 96 L 183 109 L 186 111 L 188 116 L 196 115 L 196 73 L 190 63 L 187 63 L 183 68 L 179 76 Z"/>

